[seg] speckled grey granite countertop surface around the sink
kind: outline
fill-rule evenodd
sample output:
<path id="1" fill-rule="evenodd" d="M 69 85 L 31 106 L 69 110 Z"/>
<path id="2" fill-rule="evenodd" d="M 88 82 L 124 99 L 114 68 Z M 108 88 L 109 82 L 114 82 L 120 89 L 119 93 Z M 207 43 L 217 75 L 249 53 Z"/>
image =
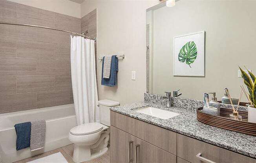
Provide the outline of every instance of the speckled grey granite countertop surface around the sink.
<path id="1" fill-rule="evenodd" d="M 147 106 L 170 110 L 172 112 L 180 113 L 180 115 L 163 120 L 134 111 L 135 109 Z M 195 109 L 184 109 L 177 106 L 167 108 L 156 103 L 137 102 L 119 107 L 112 107 L 110 110 L 245 156 L 256 158 L 256 137 L 201 123 L 196 119 Z"/>

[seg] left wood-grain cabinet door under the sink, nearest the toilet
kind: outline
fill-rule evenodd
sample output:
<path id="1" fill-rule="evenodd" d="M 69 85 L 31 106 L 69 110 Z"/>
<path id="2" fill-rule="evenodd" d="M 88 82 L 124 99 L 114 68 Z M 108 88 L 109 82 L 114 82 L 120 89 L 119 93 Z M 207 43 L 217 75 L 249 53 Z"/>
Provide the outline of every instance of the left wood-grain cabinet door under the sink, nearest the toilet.
<path id="1" fill-rule="evenodd" d="M 110 162 L 134 163 L 134 137 L 113 126 L 110 127 Z"/>

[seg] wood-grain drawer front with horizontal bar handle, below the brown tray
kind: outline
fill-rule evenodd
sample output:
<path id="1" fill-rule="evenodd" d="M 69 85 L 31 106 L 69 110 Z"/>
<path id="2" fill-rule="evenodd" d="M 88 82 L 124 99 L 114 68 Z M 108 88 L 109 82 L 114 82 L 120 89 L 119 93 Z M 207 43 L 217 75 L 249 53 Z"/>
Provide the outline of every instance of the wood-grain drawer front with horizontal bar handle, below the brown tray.
<path id="1" fill-rule="evenodd" d="M 201 154 L 201 159 L 208 159 L 216 163 L 256 163 L 256 159 L 177 134 L 178 157 L 191 163 L 203 163 L 204 161 L 200 161 L 196 156 L 198 154 Z"/>

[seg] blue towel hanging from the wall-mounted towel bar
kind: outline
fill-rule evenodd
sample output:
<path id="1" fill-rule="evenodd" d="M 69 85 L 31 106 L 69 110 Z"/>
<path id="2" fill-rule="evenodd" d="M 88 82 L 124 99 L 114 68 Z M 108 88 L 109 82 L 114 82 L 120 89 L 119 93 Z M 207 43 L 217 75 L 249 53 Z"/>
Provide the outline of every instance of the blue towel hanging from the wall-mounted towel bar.
<path id="1" fill-rule="evenodd" d="M 118 58 L 117 55 L 113 55 L 111 58 L 111 70 L 109 79 L 103 78 L 104 58 L 105 57 L 102 58 L 101 85 L 113 87 L 117 85 Z"/>

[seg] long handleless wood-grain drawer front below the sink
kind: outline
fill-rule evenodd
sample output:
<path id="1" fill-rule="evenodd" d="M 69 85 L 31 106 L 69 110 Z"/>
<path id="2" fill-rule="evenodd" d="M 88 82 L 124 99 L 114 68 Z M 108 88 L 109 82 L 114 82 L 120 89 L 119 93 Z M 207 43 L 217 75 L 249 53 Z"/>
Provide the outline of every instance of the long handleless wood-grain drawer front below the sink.
<path id="1" fill-rule="evenodd" d="M 177 154 L 177 134 L 170 130 L 111 111 L 110 123 L 174 155 Z"/>

